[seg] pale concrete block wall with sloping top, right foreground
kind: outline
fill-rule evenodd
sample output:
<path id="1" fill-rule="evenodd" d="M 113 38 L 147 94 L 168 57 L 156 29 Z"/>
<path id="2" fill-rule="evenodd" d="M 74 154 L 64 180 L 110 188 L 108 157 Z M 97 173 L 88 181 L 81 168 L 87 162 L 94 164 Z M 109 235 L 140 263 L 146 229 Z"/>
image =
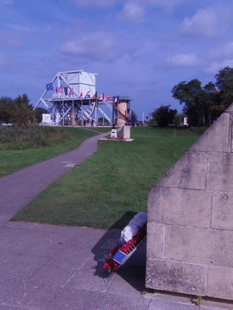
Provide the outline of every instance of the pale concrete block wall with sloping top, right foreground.
<path id="1" fill-rule="evenodd" d="M 146 287 L 233 300 L 233 104 L 148 197 Z"/>

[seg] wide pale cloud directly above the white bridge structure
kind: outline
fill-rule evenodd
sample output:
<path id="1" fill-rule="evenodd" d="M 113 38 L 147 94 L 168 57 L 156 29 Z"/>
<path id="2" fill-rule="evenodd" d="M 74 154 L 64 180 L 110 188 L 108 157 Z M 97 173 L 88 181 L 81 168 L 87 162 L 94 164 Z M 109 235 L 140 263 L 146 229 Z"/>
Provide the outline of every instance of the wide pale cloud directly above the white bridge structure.
<path id="1" fill-rule="evenodd" d="M 114 61 L 125 53 L 125 49 L 118 43 L 117 38 L 106 32 L 85 34 L 80 39 L 67 41 L 61 45 L 59 50 L 66 55 L 82 56 L 93 61 Z"/>

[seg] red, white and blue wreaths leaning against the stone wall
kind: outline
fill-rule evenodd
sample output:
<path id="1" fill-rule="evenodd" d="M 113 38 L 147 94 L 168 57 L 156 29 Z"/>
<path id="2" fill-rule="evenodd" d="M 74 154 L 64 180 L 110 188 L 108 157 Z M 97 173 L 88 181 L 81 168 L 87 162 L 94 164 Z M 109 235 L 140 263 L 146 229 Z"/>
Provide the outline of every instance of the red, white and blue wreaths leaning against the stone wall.
<path id="1" fill-rule="evenodd" d="M 121 238 L 119 238 L 117 246 L 108 255 L 103 269 L 108 269 L 110 273 L 114 273 L 132 256 L 146 236 L 147 219 L 148 216 L 145 212 L 139 212 L 130 220 L 130 223 L 121 231 Z"/>

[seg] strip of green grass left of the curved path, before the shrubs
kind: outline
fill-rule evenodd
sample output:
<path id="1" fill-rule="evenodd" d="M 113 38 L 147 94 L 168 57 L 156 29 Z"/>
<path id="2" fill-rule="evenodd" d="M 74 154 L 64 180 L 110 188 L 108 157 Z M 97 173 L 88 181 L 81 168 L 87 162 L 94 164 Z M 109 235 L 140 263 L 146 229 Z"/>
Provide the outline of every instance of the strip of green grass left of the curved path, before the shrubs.
<path id="1" fill-rule="evenodd" d="M 0 177 L 11 174 L 19 169 L 45 161 L 59 154 L 70 152 L 79 147 L 81 142 L 98 132 L 110 131 L 110 128 L 97 128 L 97 131 L 80 127 L 53 127 L 54 130 L 63 130 L 68 139 L 62 143 L 56 143 L 46 147 L 28 147 L 26 149 L 0 149 Z"/>

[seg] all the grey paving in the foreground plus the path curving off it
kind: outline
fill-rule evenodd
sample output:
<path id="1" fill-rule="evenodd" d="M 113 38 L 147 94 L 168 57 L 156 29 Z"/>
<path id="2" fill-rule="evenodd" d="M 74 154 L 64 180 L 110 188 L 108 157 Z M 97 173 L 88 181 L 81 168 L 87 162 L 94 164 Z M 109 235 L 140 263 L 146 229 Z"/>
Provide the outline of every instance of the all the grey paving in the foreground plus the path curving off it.
<path id="1" fill-rule="evenodd" d="M 68 164 L 81 163 L 95 152 L 98 138 L 0 179 L 0 309 L 199 309 L 183 300 L 141 295 L 145 242 L 114 276 L 108 276 L 103 262 L 120 231 L 8 221 L 71 169 Z"/>

